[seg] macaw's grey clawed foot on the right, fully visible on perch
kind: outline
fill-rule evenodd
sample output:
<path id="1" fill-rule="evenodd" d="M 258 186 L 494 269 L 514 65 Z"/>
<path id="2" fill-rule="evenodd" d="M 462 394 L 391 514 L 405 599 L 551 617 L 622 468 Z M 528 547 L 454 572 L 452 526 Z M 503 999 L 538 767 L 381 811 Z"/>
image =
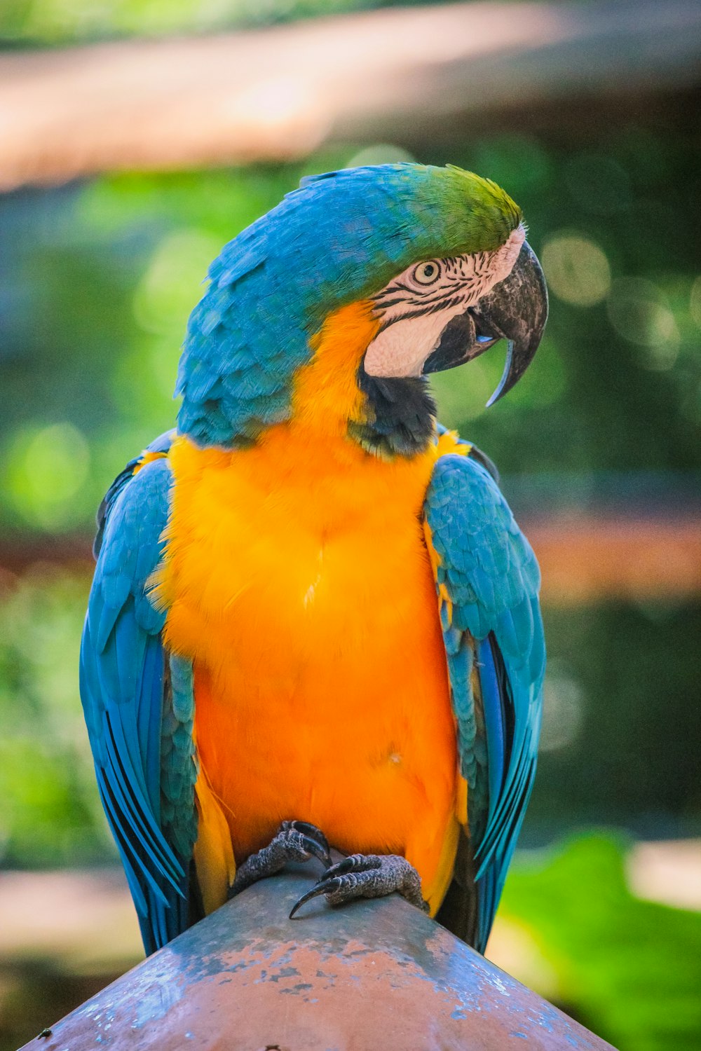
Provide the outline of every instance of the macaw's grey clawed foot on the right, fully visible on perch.
<path id="1" fill-rule="evenodd" d="M 302 895 L 290 912 L 290 920 L 300 906 L 318 894 L 324 894 L 329 905 L 345 905 L 354 898 L 384 898 L 395 890 L 412 905 L 428 911 L 421 894 L 421 879 L 406 858 L 350 854 L 327 868 L 316 886 Z"/>

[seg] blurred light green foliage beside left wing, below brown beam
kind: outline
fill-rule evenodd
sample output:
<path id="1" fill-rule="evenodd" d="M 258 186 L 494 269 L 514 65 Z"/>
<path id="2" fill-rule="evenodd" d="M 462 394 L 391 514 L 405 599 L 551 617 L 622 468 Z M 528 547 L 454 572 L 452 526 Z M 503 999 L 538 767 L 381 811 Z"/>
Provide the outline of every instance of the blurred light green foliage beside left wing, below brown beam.
<path id="1" fill-rule="evenodd" d="M 0 863 L 116 857 L 78 703 L 88 583 L 38 563 L 0 603 Z"/>

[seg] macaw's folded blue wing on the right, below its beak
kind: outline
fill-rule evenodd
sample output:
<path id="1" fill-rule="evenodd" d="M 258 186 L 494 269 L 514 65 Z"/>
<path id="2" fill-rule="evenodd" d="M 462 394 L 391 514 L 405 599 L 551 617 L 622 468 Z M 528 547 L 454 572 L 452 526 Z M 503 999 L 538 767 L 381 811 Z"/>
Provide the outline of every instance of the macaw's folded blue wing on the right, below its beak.
<path id="1" fill-rule="evenodd" d="M 535 555 L 468 450 L 437 459 L 425 515 L 468 787 L 438 919 L 483 951 L 533 786 L 545 650 Z"/>

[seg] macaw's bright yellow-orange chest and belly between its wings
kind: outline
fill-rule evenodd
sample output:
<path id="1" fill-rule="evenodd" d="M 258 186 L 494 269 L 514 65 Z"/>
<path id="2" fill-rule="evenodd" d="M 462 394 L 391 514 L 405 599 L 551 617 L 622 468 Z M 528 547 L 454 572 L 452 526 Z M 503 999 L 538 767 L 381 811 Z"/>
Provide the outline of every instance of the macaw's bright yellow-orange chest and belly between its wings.
<path id="1" fill-rule="evenodd" d="M 296 818 L 405 854 L 430 897 L 458 782 L 421 526 L 435 458 L 383 461 L 304 423 L 245 451 L 176 441 L 165 638 L 193 661 L 236 861 Z"/>

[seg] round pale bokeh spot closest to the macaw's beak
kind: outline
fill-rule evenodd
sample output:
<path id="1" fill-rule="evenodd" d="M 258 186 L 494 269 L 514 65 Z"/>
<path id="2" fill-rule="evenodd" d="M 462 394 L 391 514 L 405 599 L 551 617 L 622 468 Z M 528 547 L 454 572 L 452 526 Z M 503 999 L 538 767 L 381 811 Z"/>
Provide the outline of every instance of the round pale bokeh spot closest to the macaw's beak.
<path id="1" fill-rule="evenodd" d="M 579 233 L 559 231 L 541 253 L 549 288 L 565 303 L 593 307 L 609 294 L 611 267 L 597 244 Z"/>

